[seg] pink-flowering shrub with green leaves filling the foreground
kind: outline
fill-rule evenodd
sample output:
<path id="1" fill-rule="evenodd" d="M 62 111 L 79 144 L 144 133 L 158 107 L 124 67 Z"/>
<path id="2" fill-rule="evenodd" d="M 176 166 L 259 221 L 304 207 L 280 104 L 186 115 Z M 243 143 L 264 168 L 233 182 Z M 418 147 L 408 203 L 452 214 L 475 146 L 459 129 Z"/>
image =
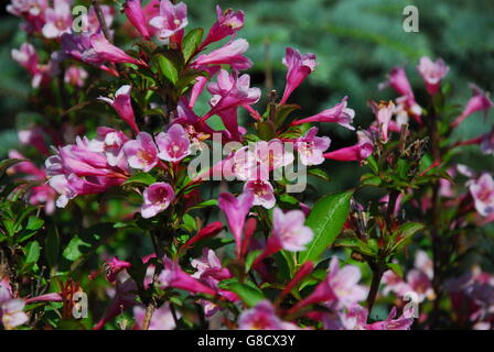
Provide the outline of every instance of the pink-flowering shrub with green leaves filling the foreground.
<path id="1" fill-rule="evenodd" d="M 58 91 L 60 106 L 43 109 L 53 116 L 19 133 L 23 147 L 41 154 L 44 167 L 10 152 L 4 168 L 24 179 L 6 202 L 25 194 L 31 208 L 18 222 L 2 226 L 0 235 L 15 234 L 6 240 L 12 255 L 34 240 L 22 249 L 26 258 L 19 262 L 20 273 L 40 277 L 45 265 L 34 262 L 45 235 L 50 275 L 66 276 L 57 285 L 45 279 L 52 293 L 30 295 L 34 298 L 19 298 L 10 278 L 0 277 L 7 329 L 43 309 L 28 309 L 26 301 L 66 312 L 72 295 L 97 285 L 108 288 L 109 304 L 93 312 L 99 319 L 94 329 L 117 327 L 117 320 L 120 328 L 144 330 L 433 329 L 447 299 L 459 326 L 493 327 L 492 275 L 460 276 L 454 265 L 465 233 L 494 221 L 493 176 L 451 161 L 464 145 L 494 154 L 494 130 L 470 141 L 452 138 L 466 118 L 490 110 L 487 94 L 472 86 L 463 111 L 447 116 L 442 81 L 449 67 L 422 57 L 417 70 L 426 94 L 414 91 L 405 67 L 393 68 L 380 88 L 389 86 L 398 97 L 370 100 L 375 120 L 357 130 L 347 96 L 312 116 L 291 101 L 318 69 L 312 53 L 287 47 L 280 99 L 276 91 L 266 96 L 253 87 L 243 73 L 253 66 L 248 42 L 237 37 L 243 11 L 216 7 L 217 20 L 204 35 L 203 29 L 190 29 L 184 2 L 126 0 L 122 29 L 111 29 L 112 7 L 96 6 L 76 30 L 72 7 L 71 0 L 8 6 L 30 37 L 44 43 L 40 48 L 22 44 L 12 51 L 13 59 L 32 76 L 36 95 Z M 124 50 L 120 36 L 133 45 Z M 49 62 L 41 64 L 36 51 Z M 321 133 L 327 123 L 350 130 L 356 143 L 334 146 Z M 217 144 L 221 152 L 214 154 Z M 207 165 L 197 173 L 203 157 Z M 364 170 L 358 186 L 318 201 L 304 188 L 291 191 L 293 175 L 329 182 L 326 161 L 357 162 L 353 165 Z M 365 194 L 368 188 L 378 188 L 378 197 Z M 116 199 L 120 205 L 108 210 Z M 29 217 L 41 207 L 45 216 Z M 41 217 L 46 222 L 39 224 Z M 152 248 L 144 257 L 130 244 L 136 233 L 149 242 L 142 248 Z M 96 250 L 111 249 L 117 237 L 129 239 L 126 249 Z M 408 248 L 414 265 L 402 257 Z M 68 289 L 82 277 L 74 273 L 89 265 L 88 256 L 104 262 L 104 271 L 90 268 L 87 280 Z M 71 268 L 64 272 L 66 262 Z M 408 296 L 432 307 L 417 316 L 407 310 Z M 389 315 L 376 317 L 376 305 Z M 32 327 L 36 323 L 43 322 Z"/>

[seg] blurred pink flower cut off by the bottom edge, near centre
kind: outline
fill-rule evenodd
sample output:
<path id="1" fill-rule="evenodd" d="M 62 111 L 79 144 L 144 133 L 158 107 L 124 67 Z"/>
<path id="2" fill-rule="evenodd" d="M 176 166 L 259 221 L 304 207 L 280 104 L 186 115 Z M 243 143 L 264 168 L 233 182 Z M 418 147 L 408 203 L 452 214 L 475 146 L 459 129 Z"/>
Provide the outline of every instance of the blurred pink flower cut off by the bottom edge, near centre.
<path id="1" fill-rule="evenodd" d="M 276 316 L 269 300 L 261 300 L 254 308 L 241 312 L 238 318 L 238 329 L 283 330 L 283 321 Z"/>

